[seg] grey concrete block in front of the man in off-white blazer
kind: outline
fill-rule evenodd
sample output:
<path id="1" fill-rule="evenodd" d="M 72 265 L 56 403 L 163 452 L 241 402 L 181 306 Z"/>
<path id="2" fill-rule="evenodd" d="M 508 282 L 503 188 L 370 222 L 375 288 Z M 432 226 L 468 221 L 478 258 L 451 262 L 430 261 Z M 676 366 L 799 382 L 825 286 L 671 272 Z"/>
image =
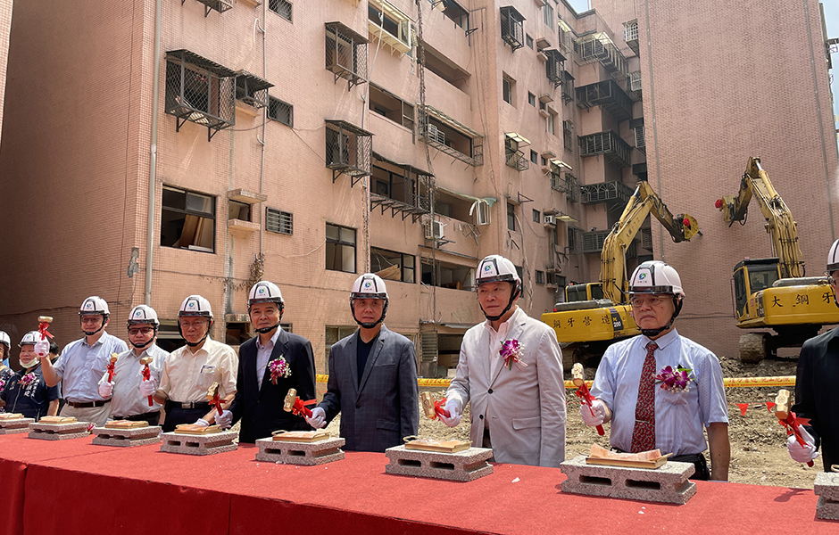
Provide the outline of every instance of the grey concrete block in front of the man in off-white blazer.
<path id="1" fill-rule="evenodd" d="M 493 457 L 493 450 L 469 448 L 457 453 L 420 451 L 395 446 L 385 450 L 389 463 L 386 473 L 432 477 L 449 481 L 475 481 L 493 473 L 492 465 L 486 460 Z"/>

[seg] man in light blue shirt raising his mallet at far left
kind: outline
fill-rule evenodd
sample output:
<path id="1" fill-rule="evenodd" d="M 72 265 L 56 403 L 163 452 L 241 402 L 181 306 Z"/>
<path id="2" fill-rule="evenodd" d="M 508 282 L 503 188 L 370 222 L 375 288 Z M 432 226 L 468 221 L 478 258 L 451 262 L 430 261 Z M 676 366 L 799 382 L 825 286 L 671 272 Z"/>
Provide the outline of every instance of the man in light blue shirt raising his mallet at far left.
<path id="1" fill-rule="evenodd" d="M 129 348 L 116 336 L 105 333 L 110 317 L 108 303 L 101 297 L 94 295 L 84 300 L 79 308 L 79 323 L 85 337 L 67 344 L 55 366 L 50 362 L 49 342 L 41 340 L 35 344 L 46 385 L 62 383 L 67 402 L 61 416 L 75 416 L 79 422 L 98 426 L 111 416 L 111 400 L 99 395 L 99 378 L 111 362 L 111 354 Z"/>

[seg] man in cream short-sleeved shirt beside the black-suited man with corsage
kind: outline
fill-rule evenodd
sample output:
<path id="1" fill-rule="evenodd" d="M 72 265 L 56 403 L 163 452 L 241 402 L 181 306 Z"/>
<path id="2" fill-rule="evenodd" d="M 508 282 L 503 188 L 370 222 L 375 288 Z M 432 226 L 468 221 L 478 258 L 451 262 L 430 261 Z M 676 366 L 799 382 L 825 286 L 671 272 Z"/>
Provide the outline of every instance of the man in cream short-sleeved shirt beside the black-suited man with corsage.
<path id="1" fill-rule="evenodd" d="M 207 389 L 212 383 L 219 383 L 223 408 L 227 408 L 236 395 L 238 358 L 233 348 L 210 338 L 210 301 L 200 295 L 187 297 L 180 306 L 178 325 L 187 345 L 173 351 L 166 359 L 156 391 L 151 381 L 144 381 L 140 386 L 142 395 L 154 394 L 154 399 L 164 404 L 163 432 L 174 431 L 179 424 L 193 424 L 204 419 L 212 423 L 215 413 L 207 401 Z"/>

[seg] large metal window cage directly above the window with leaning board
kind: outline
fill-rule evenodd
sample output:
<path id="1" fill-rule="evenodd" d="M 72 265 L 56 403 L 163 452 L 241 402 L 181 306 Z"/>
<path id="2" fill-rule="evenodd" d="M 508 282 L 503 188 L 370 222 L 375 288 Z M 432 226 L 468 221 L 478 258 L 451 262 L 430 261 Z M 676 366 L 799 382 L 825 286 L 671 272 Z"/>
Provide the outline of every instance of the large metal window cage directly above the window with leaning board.
<path id="1" fill-rule="evenodd" d="M 236 124 L 236 72 L 188 50 L 166 53 L 165 112 L 175 130 L 188 121 L 207 127 L 207 141 Z"/>

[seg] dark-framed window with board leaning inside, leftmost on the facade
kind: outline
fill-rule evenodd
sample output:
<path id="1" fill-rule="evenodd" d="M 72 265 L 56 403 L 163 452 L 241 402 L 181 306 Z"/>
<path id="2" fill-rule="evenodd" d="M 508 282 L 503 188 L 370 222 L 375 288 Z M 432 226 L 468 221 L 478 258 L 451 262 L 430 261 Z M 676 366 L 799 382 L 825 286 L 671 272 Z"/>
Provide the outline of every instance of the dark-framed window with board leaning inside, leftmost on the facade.
<path id="1" fill-rule="evenodd" d="M 215 251 L 216 199 L 203 193 L 163 186 L 161 245 L 190 251 Z"/>

